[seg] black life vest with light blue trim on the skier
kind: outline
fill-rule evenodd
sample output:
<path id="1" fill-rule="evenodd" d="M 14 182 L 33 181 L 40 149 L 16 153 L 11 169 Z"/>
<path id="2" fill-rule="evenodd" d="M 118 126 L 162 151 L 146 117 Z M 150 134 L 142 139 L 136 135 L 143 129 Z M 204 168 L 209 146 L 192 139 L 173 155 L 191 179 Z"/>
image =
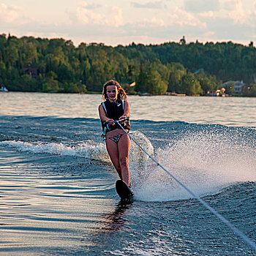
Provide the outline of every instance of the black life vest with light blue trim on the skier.
<path id="1" fill-rule="evenodd" d="M 113 120 L 118 120 L 121 116 L 124 115 L 124 100 L 116 99 L 116 102 L 110 102 L 108 99 L 105 102 L 102 102 L 102 107 L 105 111 L 106 116 Z M 130 129 L 129 118 L 127 121 L 121 124 L 124 129 Z M 118 124 L 110 125 L 102 122 L 103 136 L 105 132 L 112 131 L 113 129 L 120 128 Z"/>

